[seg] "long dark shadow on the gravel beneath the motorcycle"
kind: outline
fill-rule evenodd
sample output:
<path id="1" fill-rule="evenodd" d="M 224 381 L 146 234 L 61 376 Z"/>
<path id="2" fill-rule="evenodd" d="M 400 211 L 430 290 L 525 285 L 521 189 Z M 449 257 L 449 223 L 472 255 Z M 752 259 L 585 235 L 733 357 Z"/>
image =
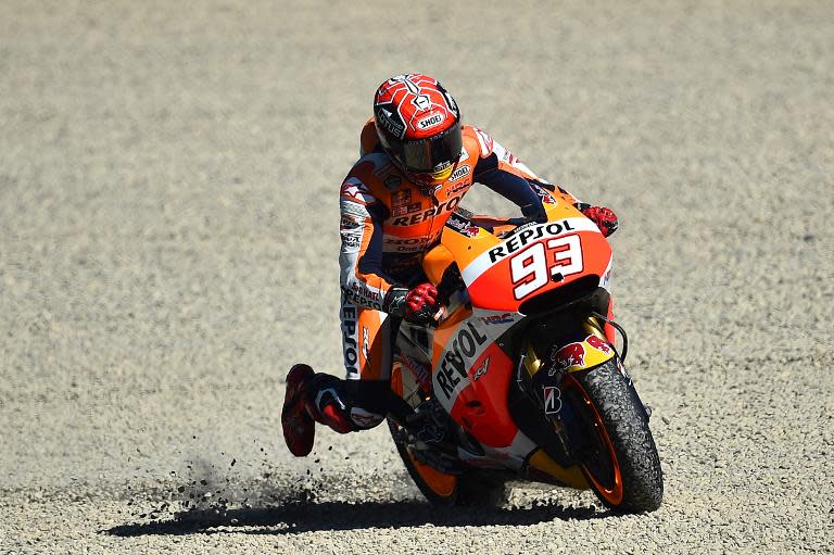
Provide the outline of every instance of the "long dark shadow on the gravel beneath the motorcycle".
<path id="1" fill-rule="evenodd" d="M 402 528 L 424 525 L 529 526 L 553 519 L 604 518 L 593 507 L 564 507 L 544 504 L 530 508 L 434 507 L 419 502 L 306 503 L 267 508 L 235 508 L 217 515 L 211 512 L 178 513 L 172 520 L 121 525 L 102 533 L 117 537 L 182 535 L 193 533 L 294 534 L 319 530 Z"/>

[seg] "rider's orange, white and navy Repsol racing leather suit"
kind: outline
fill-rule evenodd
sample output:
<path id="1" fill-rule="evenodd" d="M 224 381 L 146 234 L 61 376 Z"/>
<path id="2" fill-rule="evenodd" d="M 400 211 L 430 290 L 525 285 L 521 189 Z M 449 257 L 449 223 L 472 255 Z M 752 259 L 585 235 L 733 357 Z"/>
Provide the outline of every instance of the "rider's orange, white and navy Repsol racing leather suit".
<path id="1" fill-rule="evenodd" d="M 399 318 L 386 313 L 387 295 L 392 287 L 426 280 L 422 255 L 472 184 L 498 192 L 526 215 L 543 212 L 546 193 L 539 184 L 552 188 L 482 130 L 463 126 L 454 171 L 433 194 L 425 194 L 425 187 L 408 180 L 381 149 L 371 118 L 362 131 L 362 156 L 342 185 L 340 316 L 348 379 L 319 375 L 312 396 L 319 409 L 336 402 L 354 429 L 376 426 L 390 409 L 384 399 Z M 577 202 L 566 191 L 555 191 Z"/>

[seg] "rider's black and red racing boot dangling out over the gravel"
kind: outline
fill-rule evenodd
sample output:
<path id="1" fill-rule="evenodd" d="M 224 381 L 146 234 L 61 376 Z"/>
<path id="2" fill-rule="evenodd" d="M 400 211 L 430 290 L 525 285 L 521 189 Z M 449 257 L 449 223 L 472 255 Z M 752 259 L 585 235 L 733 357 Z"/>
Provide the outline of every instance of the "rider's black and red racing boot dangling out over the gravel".
<path id="1" fill-rule="evenodd" d="M 306 364 L 296 364 L 287 374 L 281 426 L 283 440 L 296 457 L 313 451 L 315 422 L 325 424 L 339 433 L 357 429 L 339 399 L 339 381 L 328 374 L 316 374 Z"/>

